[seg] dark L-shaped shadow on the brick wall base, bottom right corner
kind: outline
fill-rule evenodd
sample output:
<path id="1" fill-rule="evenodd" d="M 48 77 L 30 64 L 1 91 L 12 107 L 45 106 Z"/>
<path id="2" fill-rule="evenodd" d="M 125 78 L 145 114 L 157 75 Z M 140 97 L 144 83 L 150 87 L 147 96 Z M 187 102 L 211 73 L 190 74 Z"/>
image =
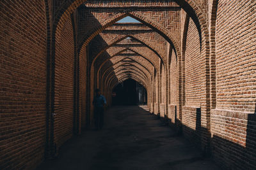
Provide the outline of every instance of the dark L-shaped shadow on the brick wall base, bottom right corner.
<path id="1" fill-rule="evenodd" d="M 230 134 L 232 139 L 232 134 Z M 234 139 L 238 141 L 239 139 Z M 228 169 L 256 169 L 256 115 L 248 115 L 246 147 L 230 140 L 213 136 L 212 153 L 216 162 Z"/>

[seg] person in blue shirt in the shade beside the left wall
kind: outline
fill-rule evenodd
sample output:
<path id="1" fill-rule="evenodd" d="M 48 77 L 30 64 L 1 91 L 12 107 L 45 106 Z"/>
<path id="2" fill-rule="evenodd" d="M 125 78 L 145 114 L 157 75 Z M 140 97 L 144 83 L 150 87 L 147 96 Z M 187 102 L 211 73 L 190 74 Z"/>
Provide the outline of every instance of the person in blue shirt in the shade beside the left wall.
<path id="1" fill-rule="evenodd" d="M 104 106 L 106 106 L 106 98 L 100 94 L 100 90 L 95 90 L 95 96 L 93 98 L 94 106 L 94 122 L 96 129 L 102 129 L 104 124 Z"/>

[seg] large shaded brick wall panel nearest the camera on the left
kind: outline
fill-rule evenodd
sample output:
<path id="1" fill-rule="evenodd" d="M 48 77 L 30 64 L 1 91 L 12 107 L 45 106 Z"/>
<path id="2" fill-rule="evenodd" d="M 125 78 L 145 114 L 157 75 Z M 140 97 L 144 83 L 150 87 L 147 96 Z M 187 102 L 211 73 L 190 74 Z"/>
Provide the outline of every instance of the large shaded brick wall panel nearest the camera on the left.
<path id="1" fill-rule="evenodd" d="M 0 169 L 29 169 L 45 149 L 45 2 L 1 1 L 0 9 Z"/>

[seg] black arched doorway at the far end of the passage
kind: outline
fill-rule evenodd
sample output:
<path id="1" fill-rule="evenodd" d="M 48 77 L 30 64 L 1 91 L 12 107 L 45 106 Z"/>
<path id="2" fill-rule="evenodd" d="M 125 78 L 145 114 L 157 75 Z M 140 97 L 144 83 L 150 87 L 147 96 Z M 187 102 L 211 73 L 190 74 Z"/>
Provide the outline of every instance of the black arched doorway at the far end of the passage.
<path id="1" fill-rule="evenodd" d="M 147 104 L 147 90 L 138 81 L 125 80 L 113 89 L 112 104 L 113 106 Z"/>

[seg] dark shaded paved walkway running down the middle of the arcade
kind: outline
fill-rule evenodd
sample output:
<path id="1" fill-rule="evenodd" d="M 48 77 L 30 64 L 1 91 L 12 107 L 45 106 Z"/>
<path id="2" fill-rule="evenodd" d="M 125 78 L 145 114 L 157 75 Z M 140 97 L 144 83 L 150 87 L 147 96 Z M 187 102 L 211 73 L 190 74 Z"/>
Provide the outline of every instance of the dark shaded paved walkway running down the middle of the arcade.
<path id="1" fill-rule="evenodd" d="M 61 147 L 58 159 L 38 169 L 220 169 L 186 139 L 138 106 L 105 113 L 101 131 L 88 130 Z"/>

